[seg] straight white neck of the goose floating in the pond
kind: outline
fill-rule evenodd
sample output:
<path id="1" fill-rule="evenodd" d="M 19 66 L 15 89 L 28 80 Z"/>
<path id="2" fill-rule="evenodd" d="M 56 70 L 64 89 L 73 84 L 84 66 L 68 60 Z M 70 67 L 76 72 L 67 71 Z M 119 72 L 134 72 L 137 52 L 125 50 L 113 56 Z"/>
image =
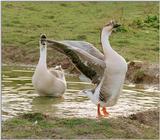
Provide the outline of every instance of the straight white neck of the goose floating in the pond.
<path id="1" fill-rule="evenodd" d="M 40 47 L 40 58 L 38 66 L 40 66 L 41 68 L 47 68 L 46 59 L 47 59 L 47 47 Z"/>

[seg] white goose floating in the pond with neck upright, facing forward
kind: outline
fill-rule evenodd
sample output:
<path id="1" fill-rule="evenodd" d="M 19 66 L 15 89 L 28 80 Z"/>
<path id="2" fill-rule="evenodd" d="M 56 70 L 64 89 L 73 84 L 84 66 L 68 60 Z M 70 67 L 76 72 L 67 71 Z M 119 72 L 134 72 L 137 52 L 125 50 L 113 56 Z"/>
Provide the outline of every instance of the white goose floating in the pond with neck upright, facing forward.
<path id="1" fill-rule="evenodd" d="M 66 80 L 61 66 L 47 68 L 46 36 L 41 35 L 40 58 L 32 77 L 32 84 L 41 96 L 62 96 L 66 90 Z"/>

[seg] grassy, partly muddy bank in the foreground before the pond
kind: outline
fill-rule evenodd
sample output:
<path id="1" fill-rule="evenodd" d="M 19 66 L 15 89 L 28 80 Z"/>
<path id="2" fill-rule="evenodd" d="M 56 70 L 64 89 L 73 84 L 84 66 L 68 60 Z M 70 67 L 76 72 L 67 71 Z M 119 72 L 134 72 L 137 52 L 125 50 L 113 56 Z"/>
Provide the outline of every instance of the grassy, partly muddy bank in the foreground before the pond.
<path id="1" fill-rule="evenodd" d="M 158 110 L 116 119 L 60 119 L 39 113 L 24 114 L 2 123 L 2 138 L 158 139 Z"/>

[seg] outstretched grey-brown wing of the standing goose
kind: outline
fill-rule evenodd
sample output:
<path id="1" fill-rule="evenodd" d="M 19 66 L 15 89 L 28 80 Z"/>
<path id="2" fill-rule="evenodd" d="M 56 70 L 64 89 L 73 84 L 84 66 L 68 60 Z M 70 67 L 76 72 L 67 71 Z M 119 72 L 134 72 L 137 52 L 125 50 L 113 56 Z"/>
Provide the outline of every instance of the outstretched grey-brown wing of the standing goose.
<path id="1" fill-rule="evenodd" d="M 48 47 L 52 47 L 57 51 L 67 55 L 73 64 L 93 83 L 99 83 L 104 69 L 104 55 L 93 45 L 81 41 L 55 41 L 46 40 Z"/>

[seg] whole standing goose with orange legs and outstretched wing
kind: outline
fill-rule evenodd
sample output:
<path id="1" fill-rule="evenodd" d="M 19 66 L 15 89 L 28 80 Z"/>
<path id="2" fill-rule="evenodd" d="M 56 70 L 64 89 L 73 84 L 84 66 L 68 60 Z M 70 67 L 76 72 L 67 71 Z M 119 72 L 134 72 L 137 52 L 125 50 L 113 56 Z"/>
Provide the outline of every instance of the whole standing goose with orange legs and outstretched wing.
<path id="1" fill-rule="evenodd" d="M 67 55 L 84 75 L 97 84 L 95 89 L 82 92 L 97 105 L 98 117 L 108 116 L 106 107 L 116 104 L 127 72 L 125 59 L 113 50 L 109 43 L 112 30 L 118 26 L 117 23 L 111 21 L 103 27 L 101 43 L 104 54 L 88 42 L 47 39 L 48 46 Z M 102 107 L 103 114 L 100 107 Z"/>

